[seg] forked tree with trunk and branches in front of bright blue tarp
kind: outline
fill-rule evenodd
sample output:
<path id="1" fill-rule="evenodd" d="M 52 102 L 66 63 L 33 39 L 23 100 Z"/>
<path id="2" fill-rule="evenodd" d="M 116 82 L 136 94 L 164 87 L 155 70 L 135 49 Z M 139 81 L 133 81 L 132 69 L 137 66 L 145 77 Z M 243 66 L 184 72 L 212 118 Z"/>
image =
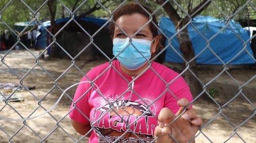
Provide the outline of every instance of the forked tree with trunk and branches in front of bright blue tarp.
<path id="1" fill-rule="evenodd" d="M 156 3 L 162 5 L 166 2 L 166 0 L 155 0 Z M 189 9 L 188 13 L 192 18 L 194 18 L 196 15 L 200 14 L 204 9 L 206 9 L 211 1 L 209 0 L 200 0 L 200 3 L 194 7 L 192 10 Z M 201 8 L 204 5 L 203 8 Z M 177 9 L 175 9 L 170 2 L 167 2 L 163 6 L 165 12 L 168 14 L 169 18 L 172 20 L 173 24 L 175 25 L 175 30 L 179 31 L 183 26 L 185 26 L 189 21 L 189 16 L 186 16 L 185 18 L 182 18 L 182 16 L 179 15 L 177 12 Z M 186 27 L 184 30 L 182 30 L 178 35 L 178 41 L 180 45 L 180 50 L 183 54 L 183 58 L 185 58 L 187 61 L 191 60 L 195 57 L 195 52 L 193 49 L 192 42 L 189 38 L 189 32 L 188 27 Z M 191 63 L 189 63 L 189 69 L 197 76 L 196 72 L 196 62 L 193 60 Z M 194 75 L 190 71 L 186 71 L 185 74 L 185 80 L 189 84 L 190 91 L 193 95 L 193 97 L 197 97 L 202 92 L 202 85 L 200 82 L 194 77 Z M 206 96 L 200 97 L 200 99 L 206 99 Z"/>

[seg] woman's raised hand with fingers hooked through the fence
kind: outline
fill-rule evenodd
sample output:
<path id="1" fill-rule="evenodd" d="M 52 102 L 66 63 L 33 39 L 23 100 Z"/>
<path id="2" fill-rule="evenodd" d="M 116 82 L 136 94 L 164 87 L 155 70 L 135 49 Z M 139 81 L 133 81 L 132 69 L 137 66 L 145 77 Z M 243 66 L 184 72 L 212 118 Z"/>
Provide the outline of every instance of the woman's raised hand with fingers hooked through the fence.
<path id="1" fill-rule="evenodd" d="M 199 126 L 202 126 L 202 119 L 196 116 L 195 109 L 190 109 L 189 101 L 182 98 L 178 101 L 180 109 L 174 114 L 168 108 L 163 108 L 158 115 L 158 126 L 155 128 L 155 138 L 159 136 L 156 143 L 175 143 L 175 141 L 168 135 L 171 134 L 179 143 L 187 143 L 194 138 Z M 187 106 L 187 107 L 186 107 Z M 165 126 L 178 117 L 183 108 L 186 107 L 186 112 L 175 122 L 169 126 Z"/>

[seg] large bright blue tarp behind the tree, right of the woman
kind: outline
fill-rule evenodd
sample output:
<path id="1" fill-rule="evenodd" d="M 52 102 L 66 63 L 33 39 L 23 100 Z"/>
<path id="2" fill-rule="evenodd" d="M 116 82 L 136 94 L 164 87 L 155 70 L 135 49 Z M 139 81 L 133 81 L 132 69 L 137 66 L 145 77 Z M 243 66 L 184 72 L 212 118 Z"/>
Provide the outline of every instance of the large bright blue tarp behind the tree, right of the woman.
<path id="1" fill-rule="evenodd" d="M 222 27 L 226 25 L 225 20 L 214 19 L 209 16 L 197 16 L 193 19 L 192 23 L 198 31 L 206 39 L 210 39 L 217 32 L 219 32 Z M 162 17 L 160 21 L 160 29 L 168 38 L 172 37 L 175 34 L 175 26 L 169 18 Z M 247 41 L 249 39 L 249 31 L 244 30 L 243 27 L 236 23 L 234 20 L 230 21 L 230 26 L 236 32 L 238 36 Z M 195 55 L 201 52 L 207 45 L 206 39 L 203 39 L 202 36 L 195 31 L 195 29 L 189 24 L 189 37 L 192 41 Z M 236 37 L 236 34 L 232 32 L 230 27 L 224 29 L 220 32 L 215 38 L 210 40 L 210 48 L 222 59 L 224 63 L 228 62 L 237 53 L 243 49 L 243 42 Z M 168 39 L 165 42 L 168 45 Z M 182 52 L 179 49 L 179 43 L 177 37 L 171 40 L 171 45 L 175 48 L 177 52 L 182 55 Z M 253 56 L 252 50 L 250 48 L 250 43 L 246 45 L 246 49 Z M 174 63 L 183 63 L 182 58 L 169 46 L 165 54 L 165 61 L 174 62 Z M 196 58 L 197 64 L 222 64 L 222 62 L 216 58 L 216 56 L 207 48 Z M 241 52 L 236 58 L 234 58 L 229 65 L 237 64 L 254 64 L 254 60 L 249 56 L 245 51 Z"/>

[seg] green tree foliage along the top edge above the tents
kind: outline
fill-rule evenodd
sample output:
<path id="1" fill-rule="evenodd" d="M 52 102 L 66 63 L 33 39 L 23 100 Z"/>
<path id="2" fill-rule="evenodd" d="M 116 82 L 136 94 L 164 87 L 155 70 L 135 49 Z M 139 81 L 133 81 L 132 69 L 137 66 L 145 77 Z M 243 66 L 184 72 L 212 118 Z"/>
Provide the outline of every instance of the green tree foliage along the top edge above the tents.
<path id="1" fill-rule="evenodd" d="M 9 0 L 0 0 L 0 9 L 7 5 Z M 31 9 L 36 12 L 38 8 L 45 2 L 45 0 L 23 0 Z M 106 0 L 100 0 L 103 3 Z M 123 0 L 107 0 L 104 2 L 104 7 L 108 8 L 110 12 L 113 12 L 116 7 L 118 7 Z M 153 11 L 160 7 L 159 4 L 155 2 L 155 0 L 138 0 L 142 5 L 145 5 L 152 9 Z M 186 13 L 195 8 L 202 0 L 176 0 L 176 2 L 183 8 L 179 8 L 174 0 L 170 0 L 169 2 L 172 6 L 177 10 L 178 14 L 181 17 L 186 16 Z M 227 16 L 235 13 L 240 7 L 242 7 L 246 1 L 248 0 L 214 0 L 213 2 L 216 4 L 220 10 L 225 13 Z M 70 16 L 70 11 L 79 7 L 84 0 L 61 0 L 61 2 L 68 8 L 63 8 L 59 1 L 56 1 L 56 15 L 55 19 L 59 19 Z M 127 3 L 134 2 L 133 0 L 128 1 Z M 252 0 L 252 3 L 256 3 L 256 0 Z M 85 12 L 88 12 L 90 9 L 95 7 L 96 0 L 87 0 L 85 3 L 81 5 L 81 7 L 74 13 L 74 15 L 78 16 Z M 100 7 L 99 5 L 96 5 Z M 1 20 L 5 21 L 11 28 L 15 22 L 24 22 L 31 21 L 34 18 L 34 14 L 20 1 L 20 0 L 12 0 L 10 5 L 4 9 L 1 14 Z M 202 15 L 209 15 L 215 18 L 224 18 L 222 13 L 218 11 L 218 9 L 214 6 L 213 3 L 209 5 L 209 7 L 202 11 Z M 163 8 L 160 8 L 155 15 L 158 20 L 161 16 L 167 16 Z M 49 7 L 47 3 L 41 7 L 40 11 L 36 14 L 37 19 L 40 21 L 46 21 L 51 19 L 51 15 L 49 12 Z M 88 13 L 87 16 L 92 17 L 109 17 L 110 14 L 104 10 L 102 7 L 96 9 L 95 11 Z M 235 19 L 255 19 L 256 12 L 252 7 L 245 6 L 239 13 L 234 17 Z M 7 29 L 7 26 L 4 26 L 2 22 L 0 22 L 0 30 Z"/>

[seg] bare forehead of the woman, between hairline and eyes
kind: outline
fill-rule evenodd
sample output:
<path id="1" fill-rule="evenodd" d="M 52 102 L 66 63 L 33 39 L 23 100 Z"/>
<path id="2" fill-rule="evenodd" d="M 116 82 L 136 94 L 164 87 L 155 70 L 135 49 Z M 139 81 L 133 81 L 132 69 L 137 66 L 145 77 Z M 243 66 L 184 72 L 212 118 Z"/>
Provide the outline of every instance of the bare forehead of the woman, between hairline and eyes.
<path id="1" fill-rule="evenodd" d="M 148 18 L 139 13 L 135 13 L 132 15 L 122 15 L 115 22 L 125 32 L 137 31 L 148 22 Z M 115 31 L 120 31 L 120 29 L 115 26 Z M 143 27 L 143 31 L 150 32 L 149 24 Z"/>

